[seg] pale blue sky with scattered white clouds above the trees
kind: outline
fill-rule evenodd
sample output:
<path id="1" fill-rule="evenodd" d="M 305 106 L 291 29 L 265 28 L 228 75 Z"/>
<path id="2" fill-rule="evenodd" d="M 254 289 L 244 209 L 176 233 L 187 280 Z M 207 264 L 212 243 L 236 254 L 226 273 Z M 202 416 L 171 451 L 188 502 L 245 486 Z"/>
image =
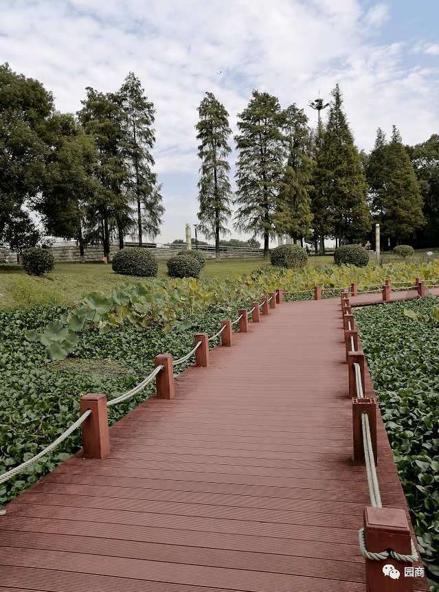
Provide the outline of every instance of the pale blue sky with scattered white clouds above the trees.
<path id="1" fill-rule="evenodd" d="M 166 212 L 156 240 L 172 242 L 198 221 L 194 126 L 205 92 L 236 134 L 253 89 L 297 104 L 315 126 L 308 102 L 327 102 L 338 83 L 359 150 L 392 125 L 418 144 L 439 128 L 438 21 L 438 0 L 2 0 L 0 62 L 42 82 L 63 113 L 81 108 L 86 87 L 117 91 L 135 73 L 157 111 Z M 232 175 L 235 160 L 233 150 Z M 250 237 L 228 227 L 228 238 Z"/>

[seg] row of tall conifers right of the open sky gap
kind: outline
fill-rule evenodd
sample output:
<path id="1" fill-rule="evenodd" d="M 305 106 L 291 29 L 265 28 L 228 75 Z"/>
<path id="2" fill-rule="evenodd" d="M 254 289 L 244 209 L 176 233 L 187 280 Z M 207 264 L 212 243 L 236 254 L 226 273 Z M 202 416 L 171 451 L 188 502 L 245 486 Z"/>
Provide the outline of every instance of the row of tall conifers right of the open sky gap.
<path id="1" fill-rule="evenodd" d="M 196 124 L 202 162 L 198 216 L 199 229 L 215 239 L 218 260 L 232 203 L 234 228 L 260 236 L 264 258 L 275 236 L 302 245 L 314 241 L 316 251 L 319 241 L 321 252 L 324 237 L 335 238 L 336 245 L 374 244 L 376 223 L 391 247 L 402 241 L 414 247 L 439 244 L 439 136 L 403 146 L 395 127 L 389 142 L 379 129 L 374 149 L 360 153 L 338 84 L 331 95 L 326 124 L 313 130 L 303 109 L 295 104 L 281 109 L 273 95 L 253 91 L 238 113 L 233 195 L 228 113 L 206 93 Z"/>

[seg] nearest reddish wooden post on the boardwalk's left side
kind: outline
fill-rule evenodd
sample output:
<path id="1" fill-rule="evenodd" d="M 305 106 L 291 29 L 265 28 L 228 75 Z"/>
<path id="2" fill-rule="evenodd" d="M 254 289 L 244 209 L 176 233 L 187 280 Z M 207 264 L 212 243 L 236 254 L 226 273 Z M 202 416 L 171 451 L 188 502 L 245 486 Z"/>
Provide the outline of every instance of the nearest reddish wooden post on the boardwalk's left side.
<path id="1" fill-rule="evenodd" d="M 105 458 L 110 452 L 109 417 L 106 410 L 106 395 L 89 393 L 80 398 L 80 414 L 91 410 L 82 422 L 82 450 L 85 458 Z"/>

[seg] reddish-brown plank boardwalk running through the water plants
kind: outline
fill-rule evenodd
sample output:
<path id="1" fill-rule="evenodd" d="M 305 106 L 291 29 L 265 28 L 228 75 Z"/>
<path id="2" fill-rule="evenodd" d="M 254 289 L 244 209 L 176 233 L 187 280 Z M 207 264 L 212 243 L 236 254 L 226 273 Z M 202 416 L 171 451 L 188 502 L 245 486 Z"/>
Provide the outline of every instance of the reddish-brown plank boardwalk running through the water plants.
<path id="1" fill-rule="evenodd" d="M 365 591 L 339 298 L 277 306 L 210 361 L 6 506 L 0 592 Z M 378 442 L 383 506 L 407 511 L 381 418 Z"/>

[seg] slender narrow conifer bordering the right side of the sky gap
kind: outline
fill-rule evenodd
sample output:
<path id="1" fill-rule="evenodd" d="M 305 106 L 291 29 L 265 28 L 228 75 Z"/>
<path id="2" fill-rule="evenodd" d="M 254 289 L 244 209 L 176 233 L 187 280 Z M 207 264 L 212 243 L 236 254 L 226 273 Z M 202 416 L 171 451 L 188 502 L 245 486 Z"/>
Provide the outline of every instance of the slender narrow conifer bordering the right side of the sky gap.
<path id="1" fill-rule="evenodd" d="M 200 180 L 199 229 L 207 237 L 215 238 L 216 261 L 220 260 L 220 234 L 229 232 L 225 227 L 232 212 L 229 204 L 232 198 L 232 187 L 229 183 L 230 166 L 227 157 L 232 148 L 227 139 L 232 134 L 229 128 L 229 113 L 216 100 L 212 93 L 206 93 L 198 108 L 199 122 L 196 139 L 199 144 L 198 156 L 202 164 L 199 170 Z"/>

